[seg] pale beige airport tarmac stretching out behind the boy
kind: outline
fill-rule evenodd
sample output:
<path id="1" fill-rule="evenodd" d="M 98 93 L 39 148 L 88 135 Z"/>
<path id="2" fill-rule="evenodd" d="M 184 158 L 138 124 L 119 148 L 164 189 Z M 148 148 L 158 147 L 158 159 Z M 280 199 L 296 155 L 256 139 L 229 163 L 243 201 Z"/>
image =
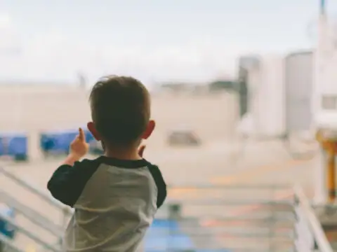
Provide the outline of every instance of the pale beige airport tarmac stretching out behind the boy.
<path id="1" fill-rule="evenodd" d="M 60 109 L 56 108 L 55 104 L 66 95 L 64 93 L 55 95 L 53 91 L 49 98 L 45 94 L 37 95 L 35 92 L 20 95 L 25 96 L 22 98 L 22 104 L 25 106 L 15 109 L 20 113 L 14 119 L 11 113 L 6 114 L 7 118 L 2 120 L 0 126 L 19 131 L 28 129 L 33 136 L 31 139 L 34 139 L 29 148 L 36 158 L 27 163 L 1 161 L 0 165 L 48 194 L 46 183 L 62 163 L 62 157 L 41 159 L 38 132 L 41 129 L 52 129 L 53 126 L 55 129 L 55 125 L 83 125 L 88 120 L 88 111 L 83 109 L 86 109 L 87 100 L 84 94 L 73 90 L 67 93 L 67 104 L 62 104 Z M 71 96 L 76 99 L 72 99 Z M 48 99 L 51 101 L 48 102 Z M 46 108 L 41 107 L 41 104 L 46 104 Z M 147 141 L 145 158 L 159 165 L 169 185 L 167 202 L 182 203 L 182 215 L 185 218 L 197 218 L 198 225 L 203 228 L 209 227 L 209 232 L 214 232 L 214 225 L 219 225 L 220 220 L 227 218 L 217 231 L 219 246 L 229 246 L 230 241 L 235 241 L 234 244 L 232 242 L 233 246 L 244 248 L 255 244 L 256 247 L 260 246 L 259 252 L 263 251 L 259 249 L 267 248 L 270 240 L 264 237 L 263 243 L 261 237 L 250 237 L 247 241 L 247 237 L 244 239 L 237 233 L 247 230 L 247 223 L 238 225 L 238 220 L 269 218 L 270 202 L 291 201 L 289 192 L 294 184 L 303 186 L 307 195 L 312 197 L 312 184 L 315 182 L 313 168 L 317 164 L 317 157 L 314 155 L 309 159 L 293 160 L 279 139 L 239 139 L 235 132 L 238 123 L 237 99 L 232 94 L 216 97 L 155 97 L 154 104 L 154 118 L 158 127 Z M 69 112 L 67 116 L 64 116 L 65 111 Z M 77 113 L 78 111 L 81 113 Z M 204 113 L 205 111 L 207 113 Z M 12 119 L 15 123 L 7 123 Z M 167 134 L 182 124 L 199 134 L 201 146 L 173 148 L 166 144 Z M 65 226 L 62 212 L 34 193 L 1 174 L 0 185 L 1 190 L 6 190 L 8 195 L 20 203 L 34 209 L 53 223 Z M 15 221 L 48 244 L 58 242 L 58 237 L 46 232 L 22 214 L 18 214 Z M 262 225 L 252 221 L 249 223 L 255 228 Z M 225 227 L 226 230 L 223 229 Z M 228 236 L 228 233 L 232 235 Z M 15 244 L 24 250 L 29 248 L 30 251 L 41 251 L 41 246 L 36 241 L 22 234 L 15 237 Z"/>

